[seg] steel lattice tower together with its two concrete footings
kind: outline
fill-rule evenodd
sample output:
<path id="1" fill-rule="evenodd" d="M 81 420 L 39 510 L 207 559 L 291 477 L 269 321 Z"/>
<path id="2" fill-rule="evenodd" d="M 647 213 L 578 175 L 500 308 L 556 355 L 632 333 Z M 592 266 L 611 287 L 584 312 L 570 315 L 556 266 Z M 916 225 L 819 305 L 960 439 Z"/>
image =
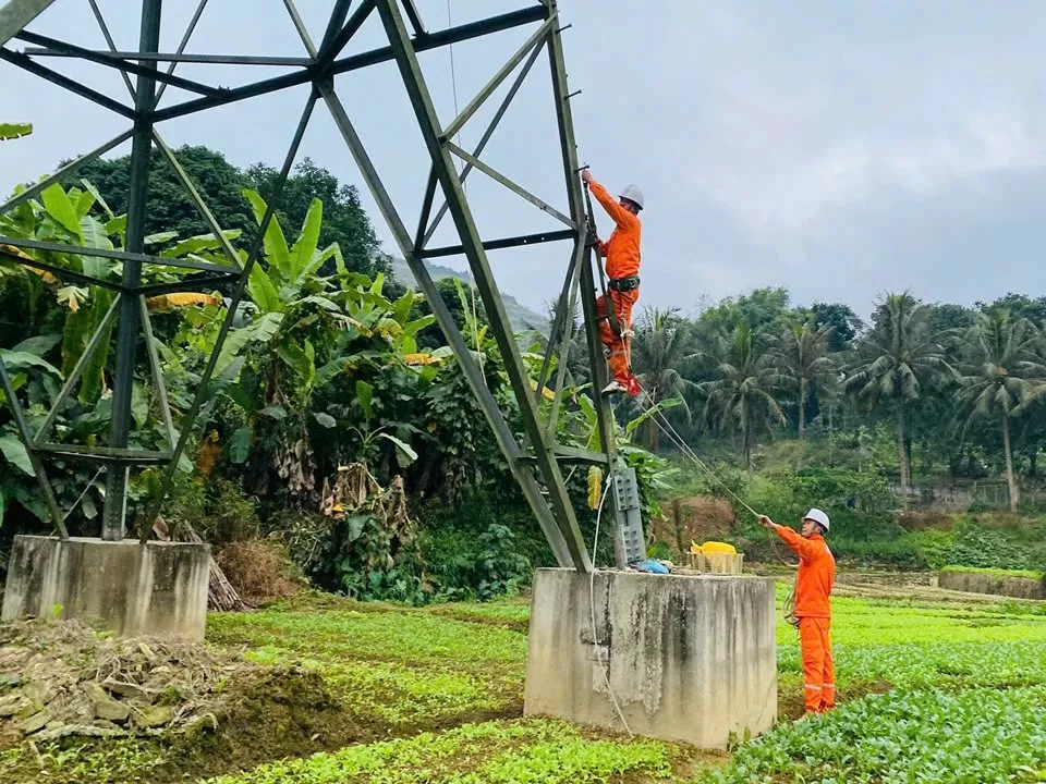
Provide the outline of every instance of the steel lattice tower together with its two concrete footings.
<path id="1" fill-rule="evenodd" d="M 34 427 L 35 421 L 26 415 L 11 373 L 0 360 L 0 389 L 19 427 L 57 531 L 53 538 L 20 537 L 11 560 L 4 617 L 26 612 L 44 615 L 54 604 L 61 604 L 66 615 L 100 614 L 125 634 L 165 632 L 202 637 L 209 551 L 204 544 L 174 546 L 150 541 L 150 534 L 162 495 L 171 487 L 186 445 L 204 425 L 199 415 L 215 379 L 218 357 L 227 344 L 251 272 L 258 264 L 263 237 L 280 208 L 283 188 L 306 130 L 314 117 L 325 111 L 344 143 L 343 149 L 357 164 L 360 176 L 377 204 L 397 250 L 406 260 L 428 301 L 561 567 L 551 574 L 539 575 L 535 587 L 536 630 L 531 642 L 527 710 L 580 721 L 613 723 L 618 719 L 607 712 L 612 701 L 622 721 L 629 714 L 630 723 L 638 732 L 706 745 L 725 744 L 728 732 L 759 732 L 768 726 L 776 712 L 771 585 L 756 578 L 716 578 L 732 581 L 722 586 L 703 581 L 698 586 L 697 583 L 677 581 L 689 578 L 660 578 L 623 572 L 596 575 L 593 571 L 592 558 L 567 492 L 563 467 L 576 464 L 597 466 L 604 476 L 613 477 L 613 492 L 607 493 L 604 501 L 604 524 L 615 532 L 619 567 L 645 554 L 638 497 L 634 474 L 622 467 L 616 454 L 611 411 L 599 394 L 593 395 L 598 448 L 579 450 L 556 442 L 556 422 L 563 404 L 563 372 L 571 343 L 569 328 L 579 299 L 594 375 L 593 387 L 600 390 L 608 381 L 595 299 L 599 269 L 594 258 L 595 237 L 579 176 L 581 164 L 571 111 L 571 101 L 576 94 L 568 86 L 563 53 L 563 33 L 569 25 L 560 17 L 557 0 L 518 2 L 519 8 L 514 10 L 465 24 L 433 28 L 426 25 L 426 13 L 423 12 L 428 9 L 425 3 L 415 0 L 328 0 L 324 3 L 327 11 L 323 25 L 315 29 L 305 21 L 307 14 L 301 12 L 295 0 L 242 3 L 244 12 L 252 16 L 279 14 L 285 19 L 288 29 L 293 30 L 300 44 L 300 54 L 287 57 L 191 52 L 190 44 L 199 20 L 208 12 L 208 0 L 198 1 L 187 29 L 180 37 L 163 35 L 170 27 L 170 24 L 166 25 L 171 16 L 170 5 L 173 5 L 169 0 L 167 3 L 163 0 L 138 0 L 133 9 L 126 0 L 112 2 L 113 7 L 119 7 L 121 17 L 132 12 L 138 17 L 138 46 L 130 51 L 117 47 L 99 0 L 0 0 L 0 61 L 4 73 L 21 69 L 41 82 L 68 90 L 71 97 L 76 96 L 108 110 L 125 123 L 125 127 L 109 142 L 0 205 L 0 216 L 39 197 L 50 185 L 68 181 L 87 162 L 127 142 L 131 144 L 130 205 L 123 248 L 114 249 L 102 243 L 69 245 L 51 240 L 0 236 L 0 255 L 3 257 L 0 260 L 25 265 L 66 284 L 100 286 L 112 296 L 111 307 L 39 426 Z M 36 32 L 46 25 L 49 15 L 83 3 L 89 5 L 107 48 L 59 40 Z M 486 2 L 478 4 L 487 7 Z M 379 32 L 380 45 L 353 50 L 361 30 L 367 26 Z M 422 56 L 512 29 L 525 30 L 527 37 L 522 46 L 506 52 L 503 64 L 464 108 L 455 112 L 455 117 L 440 117 L 430 93 L 430 74 L 423 68 Z M 235 33 L 229 30 L 222 40 L 227 37 L 233 39 Z M 177 30 L 173 34 L 178 36 Z M 169 38 L 180 40 L 179 46 L 173 51 L 161 50 L 161 41 Z M 60 68 L 68 65 L 70 59 L 75 63 L 74 69 Z M 490 166 L 489 159 L 484 160 L 484 151 L 507 110 L 524 83 L 536 78 L 531 75 L 543 61 L 542 69 L 547 74 L 545 95 L 555 113 L 558 136 L 558 155 L 555 160 L 548 160 L 547 166 L 560 172 L 562 183 L 558 194 L 544 197 Z M 394 65 L 399 81 L 405 87 L 410 122 L 426 151 L 428 176 L 414 231 L 409 228 L 402 205 L 393 198 L 393 191 L 386 185 L 378 164 L 357 132 L 361 118 L 354 119 L 339 96 L 339 90 L 344 89 L 366 94 L 368 72 L 382 64 Z M 204 65 L 207 66 L 207 78 L 214 77 L 214 81 L 184 75 L 187 69 Z M 216 84 L 217 79 L 223 78 L 222 73 L 242 75 L 247 66 L 253 69 L 251 73 L 269 70 L 275 75 L 234 87 Z M 89 86 L 86 75 L 92 70 L 119 73 L 127 95 L 113 97 Z M 459 132 L 466 124 L 475 124 L 477 112 L 494 101 L 503 85 L 508 85 L 508 89 L 478 143 L 472 149 L 465 149 L 458 142 Z M 167 143 L 166 125 L 208 112 L 221 112 L 222 121 L 229 122 L 229 108 L 295 87 L 306 87 L 307 96 L 289 140 L 279 177 L 269 195 L 260 231 L 244 256 L 231 245 L 196 183 Z M 382 100 L 388 97 L 382 96 Z M 70 117 L 75 112 L 72 107 L 71 103 Z M 76 123 L 66 122 L 71 134 L 75 134 Z M 181 182 L 187 198 L 218 238 L 224 264 L 192 257 L 173 259 L 148 252 L 146 205 L 150 193 L 149 162 L 154 156 L 166 160 Z M 461 170 L 459 164 L 463 167 Z M 476 170 L 530 203 L 534 217 L 542 218 L 543 226 L 549 216 L 560 226 L 555 231 L 542 228 L 512 236 L 482 236 L 474 204 L 464 187 L 465 179 Z M 436 228 L 447 216 L 453 224 L 455 242 L 433 247 L 430 241 Z M 551 326 L 548 356 L 544 359 L 535 390 L 514 340 L 488 254 L 537 244 L 561 249 L 563 281 Z M 519 403 L 523 429 L 519 437 L 501 414 L 478 362 L 440 298 L 426 267 L 427 259 L 452 256 L 467 261 L 489 319 L 509 385 Z M 69 259 L 84 258 L 92 259 L 93 264 L 69 264 Z M 119 277 L 111 274 L 117 266 Z M 153 267 L 180 270 L 181 273 L 157 283 L 154 278 L 143 274 Z M 196 384 L 195 396 L 175 421 L 168 405 L 145 299 L 159 294 L 216 289 L 228 292 L 226 316 L 212 354 Z M 102 344 L 108 344 L 111 334 L 115 334 L 115 370 L 107 443 L 80 443 L 70 440 L 69 434 L 52 439 L 56 419 L 68 405 L 90 356 Z M 160 412 L 161 427 L 167 434 L 166 448 L 158 451 L 134 446 L 133 378 L 143 344 L 143 358 L 148 360 L 154 379 L 155 407 Z M 555 381 L 551 380 L 554 370 L 557 375 Z M 544 415 L 538 401 L 549 387 L 552 405 Z M 88 461 L 104 468 L 106 500 L 99 539 L 69 537 L 64 512 L 49 481 L 48 464 L 53 460 Z M 129 471 L 132 467 L 145 465 L 161 467 L 162 488 L 159 498 L 141 515 L 138 541 L 133 541 L 126 539 Z M 99 574 L 107 576 L 105 586 L 98 580 Z M 630 583 L 630 579 L 662 581 Z M 645 610 L 641 612 L 640 608 Z M 641 616 L 642 624 L 633 624 L 635 627 L 630 628 L 630 618 L 634 622 Z M 557 623 L 568 624 L 565 634 L 557 633 Z M 670 633 L 662 635 L 662 628 Z M 709 636 L 708 629 L 713 628 L 722 632 L 717 633 L 718 637 L 715 634 Z M 645 636 L 638 639 L 636 635 Z M 546 644 L 549 639 L 556 645 Z M 672 644 L 670 650 L 657 648 L 665 640 Z M 726 651 L 731 652 L 729 660 Z M 555 660 L 549 660 L 549 656 Z M 683 657 L 682 664 L 679 657 Z M 632 677 L 635 673 L 643 673 L 643 676 Z M 670 678 L 682 678 L 685 688 L 674 689 Z M 546 682 L 544 691 L 539 688 L 540 681 Z M 634 688 L 625 689 L 625 684 Z M 550 700 L 550 695 L 567 698 L 570 705 Z M 619 707 L 616 695 L 625 700 L 623 708 Z M 682 721 L 680 716 L 695 714 L 715 714 L 714 726 L 701 722 L 695 725 L 697 731 L 677 726 Z"/>

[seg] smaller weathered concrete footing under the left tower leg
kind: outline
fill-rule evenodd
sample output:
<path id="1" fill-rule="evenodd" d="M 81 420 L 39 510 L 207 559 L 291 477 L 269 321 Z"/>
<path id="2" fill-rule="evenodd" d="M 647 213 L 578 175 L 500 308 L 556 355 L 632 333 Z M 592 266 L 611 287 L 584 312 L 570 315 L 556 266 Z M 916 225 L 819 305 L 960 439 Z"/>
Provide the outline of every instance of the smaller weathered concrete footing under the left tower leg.
<path id="1" fill-rule="evenodd" d="M 125 637 L 203 640 L 210 546 L 19 536 L 0 618 L 97 623 Z"/>

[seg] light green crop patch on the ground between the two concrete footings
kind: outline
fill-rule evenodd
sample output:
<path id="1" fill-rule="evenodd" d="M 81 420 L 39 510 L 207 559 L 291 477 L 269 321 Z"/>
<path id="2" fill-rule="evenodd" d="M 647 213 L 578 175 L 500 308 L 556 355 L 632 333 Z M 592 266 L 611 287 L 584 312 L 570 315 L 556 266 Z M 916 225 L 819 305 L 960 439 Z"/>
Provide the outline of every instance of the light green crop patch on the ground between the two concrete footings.
<path id="1" fill-rule="evenodd" d="M 215 614 L 212 642 L 260 664 L 315 670 L 351 713 L 410 727 L 496 712 L 523 691 L 526 638 L 435 614 L 345 609 Z"/>

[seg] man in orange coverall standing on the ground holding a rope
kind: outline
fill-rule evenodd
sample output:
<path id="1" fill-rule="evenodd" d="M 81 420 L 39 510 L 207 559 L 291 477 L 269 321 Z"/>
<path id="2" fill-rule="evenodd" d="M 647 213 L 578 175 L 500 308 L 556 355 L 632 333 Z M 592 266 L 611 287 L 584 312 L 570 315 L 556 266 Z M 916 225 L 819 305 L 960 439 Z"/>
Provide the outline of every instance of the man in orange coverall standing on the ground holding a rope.
<path id="1" fill-rule="evenodd" d="M 787 526 L 777 525 L 766 515 L 759 524 L 777 534 L 799 555 L 795 577 L 795 607 L 799 618 L 799 641 L 803 654 L 803 697 L 810 713 L 823 713 L 836 707 L 836 671 L 831 662 L 831 584 L 836 579 L 836 559 L 825 535 L 828 515 L 812 509 L 803 517 L 802 536 Z"/>

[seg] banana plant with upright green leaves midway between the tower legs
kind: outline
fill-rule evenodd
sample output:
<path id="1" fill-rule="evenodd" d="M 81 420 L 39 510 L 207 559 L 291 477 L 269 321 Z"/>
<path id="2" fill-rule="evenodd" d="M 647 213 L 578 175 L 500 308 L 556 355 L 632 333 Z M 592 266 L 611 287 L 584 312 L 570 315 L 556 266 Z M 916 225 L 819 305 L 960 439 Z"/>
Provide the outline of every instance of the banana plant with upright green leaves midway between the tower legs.
<path id="1" fill-rule="evenodd" d="M 244 196 L 260 223 L 266 203 L 253 191 Z M 235 357 L 248 357 L 228 391 L 245 417 L 228 443 L 233 463 L 246 462 L 262 426 L 275 426 L 282 440 L 300 439 L 305 448 L 299 452 L 307 453 L 307 418 L 323 428 L 337 425 L 328 412 L 312 411 L 316 393 L 345 375 L 362 376 L 393 362 L 405 365 L 404 356 L 417 354 L 416 334 L 433 323 L 431 317 L 411 320 L 413 292 L 391 302 L 384 295 L 382 275 L 370 280 L 349 272 L 337 244 L 318 246 L 323 209 L 318 199 L 312 203 L 293 244 L 279 219 L 270 221 L 264 258 L 248 279 L 246 323 L 230 332 L 219 355 L 218 372 L 235 371 Z M 335 274 L 320 275 L 330 259 Z M 412 367 L 419 375 L 437 372 L 416 356 Z M 369 417 L 373 385 L 358 378 L 354 390 Z M 398 449 L 410 456 L 408 445 Z"/>

